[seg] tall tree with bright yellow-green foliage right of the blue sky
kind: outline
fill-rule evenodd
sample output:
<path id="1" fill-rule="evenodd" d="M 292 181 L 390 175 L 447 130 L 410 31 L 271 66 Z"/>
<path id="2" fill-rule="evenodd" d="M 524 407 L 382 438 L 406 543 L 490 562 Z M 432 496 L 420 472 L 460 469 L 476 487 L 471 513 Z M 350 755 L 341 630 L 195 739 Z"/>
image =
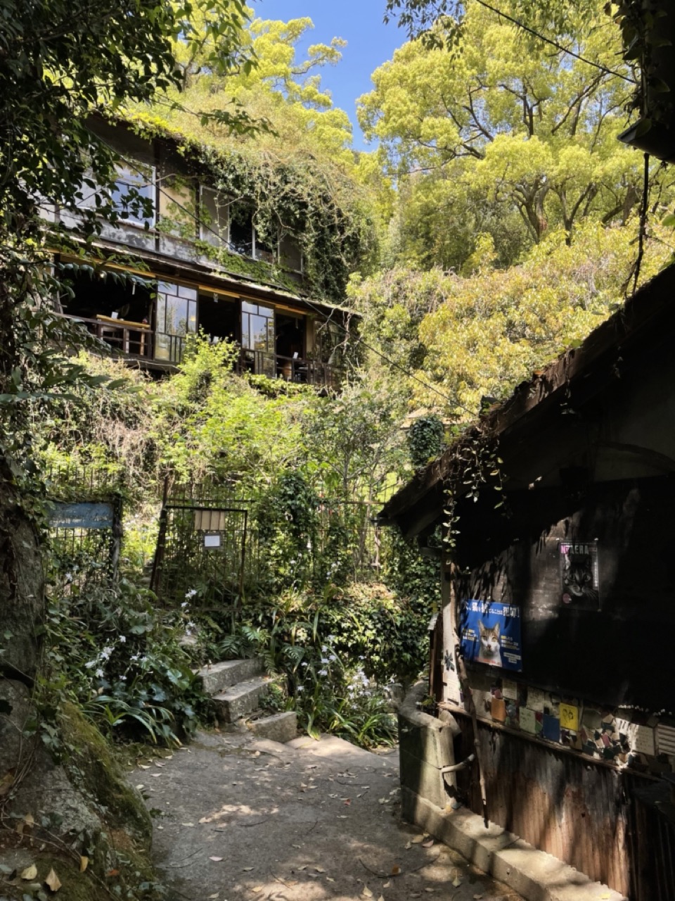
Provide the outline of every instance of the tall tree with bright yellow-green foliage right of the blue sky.
<path id="1" fill-rule="evenodd" d="M 461 265 L 472 250 L 467 221 L 493 235 L 502 262 L 518 259 L 549 229 L 563 226 L 571 238 L 584 218 L 626 222 L 640 196 L 641 167 L 617 133 L 633 85 L 608 71 L 617 68 L 618 29 L 599 9 L 590 21 L 587 13 L 569 14 L 565 32 L 575 39 L 566 43 L 600 68 L 528 40 L 471 4 L 461 52 L 410 41 L 375 71 L 360 119 L 366 135 L 381 141 L 383 166 L 401 180 L 410 261 Z M 619 69 L 632 77 L 627 66 Z M 425 240 L 437 248 L 435 258 L 419 253 Z"/>

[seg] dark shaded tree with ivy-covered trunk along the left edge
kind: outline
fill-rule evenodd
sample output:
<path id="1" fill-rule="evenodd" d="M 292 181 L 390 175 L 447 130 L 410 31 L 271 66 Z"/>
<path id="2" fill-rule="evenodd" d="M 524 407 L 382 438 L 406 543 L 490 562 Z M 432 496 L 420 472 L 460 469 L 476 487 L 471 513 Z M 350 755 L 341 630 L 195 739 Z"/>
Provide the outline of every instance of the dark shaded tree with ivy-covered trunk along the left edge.
<path id="1" fill-rule="evenodd" d="M 57 350 L 68 335 L 50 313 L 59 286 L 49 250 L 68 236 L 49 210 L 76 210 L 83 192 L 96 192 L 81 235 L 114 218 L 114 155 L 87 117 L 179 84 L 175 38 L 196 40 L 190 17 L 199 10 L 214 36 L 236 43 L 240 0 L 7 0 L 0 10 L 0 671 L 27 684 L 44 611 L 31 414 L 85 376 Z M 232 61 L 220 54 L 210 65 L 226 71 Z"/>

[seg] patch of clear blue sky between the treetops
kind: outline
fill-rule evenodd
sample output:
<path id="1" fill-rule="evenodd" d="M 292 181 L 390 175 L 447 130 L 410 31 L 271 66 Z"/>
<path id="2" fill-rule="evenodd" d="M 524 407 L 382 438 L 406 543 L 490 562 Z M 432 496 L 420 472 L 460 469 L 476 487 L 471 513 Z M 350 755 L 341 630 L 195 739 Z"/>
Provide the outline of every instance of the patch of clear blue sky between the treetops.
<path id="1" fill-rule="evenodd" d="M 385 25 L 385 0 L 255 0 L 251 4 L 262 19 L 300 19 L 309 16 L 314 30 L 305 46 L 344 38 L 347 47 L 337 66 L 321 69 L 321 84 L 328 87 L 336 106 L 344 109 L 354 124 L 354 146 L 365 148 L 356 122 L 356 98 L 371 89 L 371 73 L 405 41 L 395 22 Z M 300 47 L 302 50 L 302 44 Z"/>

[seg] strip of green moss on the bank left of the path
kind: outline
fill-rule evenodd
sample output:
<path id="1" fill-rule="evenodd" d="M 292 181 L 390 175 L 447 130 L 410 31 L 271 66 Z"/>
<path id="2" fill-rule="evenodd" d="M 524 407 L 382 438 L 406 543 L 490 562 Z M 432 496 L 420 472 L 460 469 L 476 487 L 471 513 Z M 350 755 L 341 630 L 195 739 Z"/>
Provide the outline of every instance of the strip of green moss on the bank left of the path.
<path id="1" fill-rule="evenodd" d="M 88 794 L 103 808 L 105 823 L 111 829 L 130 833 L 149 851 L 152 820 L 103 735 L 74 705 L 63 706 L 60 727 L 69 751 L 67 768 L 76 769 Z"/>

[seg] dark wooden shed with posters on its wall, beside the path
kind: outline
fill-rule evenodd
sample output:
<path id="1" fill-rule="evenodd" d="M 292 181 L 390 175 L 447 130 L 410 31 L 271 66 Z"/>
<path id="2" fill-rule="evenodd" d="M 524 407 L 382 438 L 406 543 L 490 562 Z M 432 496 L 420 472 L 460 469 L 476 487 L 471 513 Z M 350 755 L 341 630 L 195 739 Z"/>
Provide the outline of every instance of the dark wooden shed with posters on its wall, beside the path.
<path id="1" fill-rule="evenodd" d="M 675 898 L 674 342 L 671 267 L 381 514 L 444 530 L 430 692 L 487 815 L 633 901 Z M 483 813 L 477 764 L 446 792 Z"/>

